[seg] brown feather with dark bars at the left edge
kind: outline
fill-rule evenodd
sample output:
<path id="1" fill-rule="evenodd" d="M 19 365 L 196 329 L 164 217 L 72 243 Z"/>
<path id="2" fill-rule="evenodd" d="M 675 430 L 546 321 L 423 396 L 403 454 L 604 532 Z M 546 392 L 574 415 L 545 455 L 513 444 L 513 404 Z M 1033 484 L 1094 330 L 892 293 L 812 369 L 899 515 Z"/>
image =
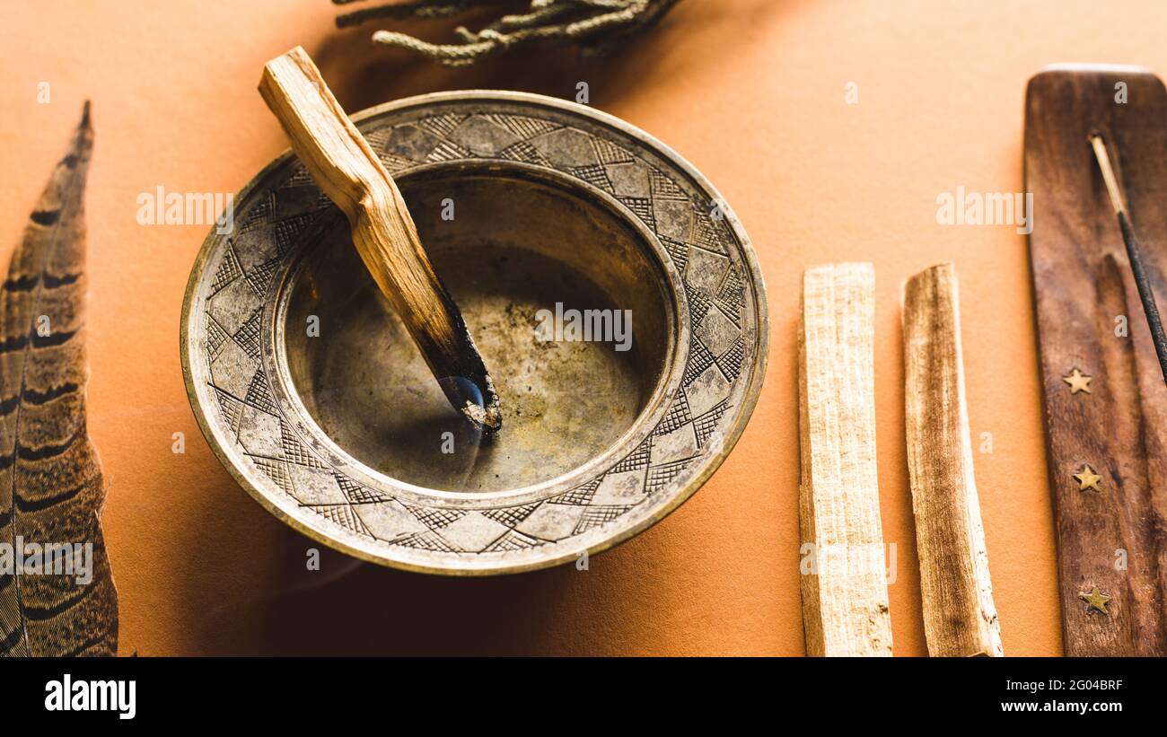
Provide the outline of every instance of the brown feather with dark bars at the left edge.
<path id="1" fill-rule="evenodd" d="M 0 287 L 0 655 L 118 646 L 105 486 L 85 429 L 82 197 L 92 147 L 86 101 Z"/>

